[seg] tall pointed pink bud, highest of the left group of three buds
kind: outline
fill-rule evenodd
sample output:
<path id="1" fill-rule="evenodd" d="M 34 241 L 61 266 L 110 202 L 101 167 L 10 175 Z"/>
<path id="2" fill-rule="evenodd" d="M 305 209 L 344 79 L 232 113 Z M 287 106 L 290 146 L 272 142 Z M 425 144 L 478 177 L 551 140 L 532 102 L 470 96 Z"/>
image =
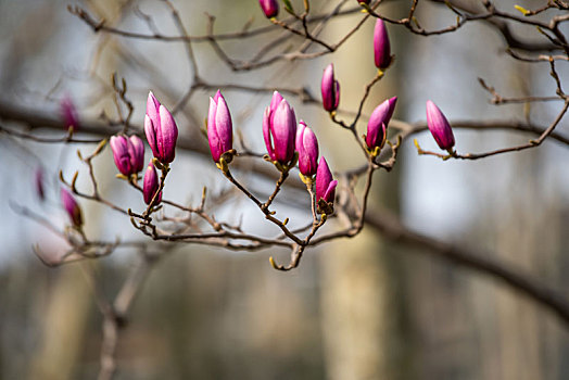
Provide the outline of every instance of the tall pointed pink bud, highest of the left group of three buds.
<path id="1" fill-rule="evenodd" d="M 148 94 L 144 134 L 154 156 L 163 164 L 174 161 L 178 127 L 169 111 L 154 97 Z"/>

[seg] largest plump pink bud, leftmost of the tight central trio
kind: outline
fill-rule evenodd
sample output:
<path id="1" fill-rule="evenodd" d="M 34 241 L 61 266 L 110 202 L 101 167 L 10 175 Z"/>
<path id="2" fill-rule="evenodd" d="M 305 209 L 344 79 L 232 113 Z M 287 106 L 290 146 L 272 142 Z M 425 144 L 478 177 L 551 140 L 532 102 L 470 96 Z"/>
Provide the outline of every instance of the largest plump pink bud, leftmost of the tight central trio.
<path id="1" fill-rule="evenodd" d="M 275 91 L 270 105 L 263 114 L 263 137 L 268 156 L 283 165 L 294 156 L 296 138 L 296 116 L 289 103 Z"/>

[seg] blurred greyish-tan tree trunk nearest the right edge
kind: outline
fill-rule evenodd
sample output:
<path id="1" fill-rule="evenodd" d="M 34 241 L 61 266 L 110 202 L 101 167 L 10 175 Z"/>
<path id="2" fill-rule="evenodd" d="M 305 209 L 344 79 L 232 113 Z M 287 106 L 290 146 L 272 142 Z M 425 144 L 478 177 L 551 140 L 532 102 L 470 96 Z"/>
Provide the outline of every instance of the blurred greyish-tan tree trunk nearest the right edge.
<path id="1" fill-rule="evenodd" d="M 538 3 L 533 3 L 538 7 Z M 515 76 L 510 78 L 514 93 L 530 96 L 539 92 L 539 83 L 533 66 L 517 63 Z M 529 80 L 530 79 L 530 80 Z M 548 78 L 545 78 L 547 80 Z M 534 117 L 539 105 L 520 105 L 516 109 L 518 117 Z M 541 107 L 540 107 L 541 109 Z M 517 140 L 508 141 L 515 144 Z M 555 245 L 559 242 L 559 211 L 549 206 L 551 199 L 540 192 L 540 182 L 546 180 L 541 173 L 546 160 L 545 150 L 533 150 L 527 154 L 511 157 L 511 169 L 517 173 L 517 182 L 507 189 L 513 197 L 506 202 L 505 215 L 494 217 L 497 252 L 505 262 L 515 263 L 535 278 L 555 274 L 552 264 Z M 519 188 L 524 183 L 523 188 Z M 524 207 L 524 200 L 533 200 L 531 207 Z M 555 265 L 555 264 L 554 264 Z M 553 282 L 543 278 L 543 282 Z M 500 333 L 494 344 L 500 346 L 498 373 L 501 379 L 549 379 L 556 373 L 548 368 L 555 364 L 558 350 L 558 335 L 546 334 L 546 318 L 540 318 L 540 311 L 530 302 L 515 297 L 509 291 L 498 291 L 494 295 Z M 545 358 L 541 353 L 548 352 Z M 544 359 L 548 365 L 545 365 Z M 519 364 L 523 363 L 522 366 Z M 552 366 L 553 365 L 553 366 Z"/>

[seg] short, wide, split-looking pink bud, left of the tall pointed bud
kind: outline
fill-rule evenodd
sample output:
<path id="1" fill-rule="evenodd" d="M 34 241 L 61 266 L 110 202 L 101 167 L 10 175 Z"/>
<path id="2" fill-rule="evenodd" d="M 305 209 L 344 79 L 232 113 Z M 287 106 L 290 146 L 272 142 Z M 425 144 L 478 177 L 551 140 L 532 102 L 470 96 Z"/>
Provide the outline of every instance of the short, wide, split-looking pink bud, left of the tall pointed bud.
<path id="1" fill-rule="evenodd" d="M 144 143 L 138 136 L 111 137 L 111 150 L 116 168 L 125 176 L 137 174 L 144 167 Z"/>

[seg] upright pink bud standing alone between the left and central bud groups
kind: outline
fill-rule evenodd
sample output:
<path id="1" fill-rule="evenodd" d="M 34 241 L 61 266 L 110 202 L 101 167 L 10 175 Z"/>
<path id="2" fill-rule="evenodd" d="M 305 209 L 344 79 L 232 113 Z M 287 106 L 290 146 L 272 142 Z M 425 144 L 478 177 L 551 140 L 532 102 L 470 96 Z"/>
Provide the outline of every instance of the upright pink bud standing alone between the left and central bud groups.
<path id="1" fill-rule="evenodd" d="M 233 127 L 231 114 L 222 92 L 210 98 L 210 112 L 207 115 L 207 142 L 212 151 L 214 162 L 219 162 L 222 154 L 232 149 Z"/>

